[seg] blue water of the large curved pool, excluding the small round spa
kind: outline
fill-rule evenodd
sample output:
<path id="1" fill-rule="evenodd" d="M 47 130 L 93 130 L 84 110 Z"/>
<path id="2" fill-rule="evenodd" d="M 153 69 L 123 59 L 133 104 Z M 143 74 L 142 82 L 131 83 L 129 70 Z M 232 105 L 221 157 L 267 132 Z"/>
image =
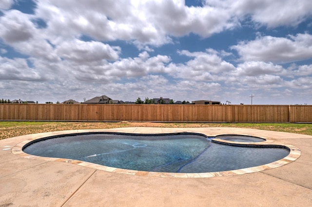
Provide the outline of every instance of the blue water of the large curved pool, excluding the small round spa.
<path id="1" fill-rule="evenodd" d="M 92 133 L 35 140 L 30 155 L 59 157 L 152 172 L 207 173 L 271 163 L 289 154 L 278 146 L 248 147 L 215 143 L 201 134 L 134 135 Z"/>

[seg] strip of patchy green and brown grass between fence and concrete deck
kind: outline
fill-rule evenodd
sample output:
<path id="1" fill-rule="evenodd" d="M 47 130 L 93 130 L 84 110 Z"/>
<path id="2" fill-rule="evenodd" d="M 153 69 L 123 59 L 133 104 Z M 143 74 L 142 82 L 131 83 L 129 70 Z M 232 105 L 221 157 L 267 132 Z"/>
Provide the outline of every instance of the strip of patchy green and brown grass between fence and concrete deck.
<path id="1" fill-rule="evenodd" d="M 119 127 L 239 127 L 312 135 L 311 123 L 173 123 L 173 122 L 71 122 L 71 121 L 0 121 L 0 139 L 61 130 L 108 129 Z"/>

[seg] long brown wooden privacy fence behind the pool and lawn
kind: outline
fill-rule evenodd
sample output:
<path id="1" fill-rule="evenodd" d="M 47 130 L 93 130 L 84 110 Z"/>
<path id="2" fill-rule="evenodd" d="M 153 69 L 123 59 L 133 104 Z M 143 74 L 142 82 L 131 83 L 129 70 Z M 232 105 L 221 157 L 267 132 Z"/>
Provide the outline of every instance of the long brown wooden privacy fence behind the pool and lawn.
<path id="1" fill-rule="evenodd" d="M 0 120 L 312 122 L 312 105 L 0 104 Z"/>

